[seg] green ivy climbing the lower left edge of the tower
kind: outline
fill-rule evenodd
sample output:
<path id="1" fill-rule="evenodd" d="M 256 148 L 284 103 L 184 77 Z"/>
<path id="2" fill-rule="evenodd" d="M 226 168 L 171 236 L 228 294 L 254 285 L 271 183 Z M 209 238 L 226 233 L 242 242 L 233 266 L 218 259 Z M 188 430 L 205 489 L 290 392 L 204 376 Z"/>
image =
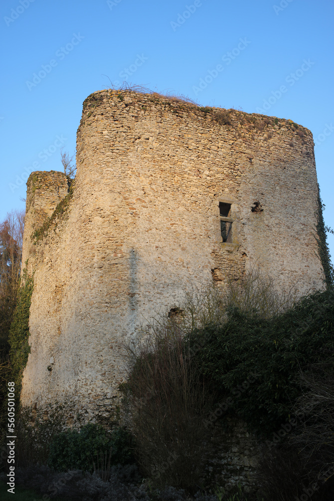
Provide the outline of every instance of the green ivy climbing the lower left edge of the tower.
<path id="1" fill-rule="evenodd" d="M 23 285 L 18 292 L 18 302 L 9 334 L 11 377 L 15 382 L 16 398 L 19 400 L 22 387 L 22 375 L 30 353 L 29 311 L 34 289 L 34 278 L 29 277 L 27 270 L 23 272 Z"/>

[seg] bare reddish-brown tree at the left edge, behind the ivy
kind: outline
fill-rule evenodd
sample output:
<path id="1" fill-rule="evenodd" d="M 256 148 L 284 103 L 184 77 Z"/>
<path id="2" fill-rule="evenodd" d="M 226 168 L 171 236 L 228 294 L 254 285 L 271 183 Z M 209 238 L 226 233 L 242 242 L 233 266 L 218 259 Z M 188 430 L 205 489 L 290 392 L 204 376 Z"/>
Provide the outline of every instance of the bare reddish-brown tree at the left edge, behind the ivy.
<path id="1" fill-rule="evenodd" d="M 22 262 L 24 210 L 12 210 L 0 223 L 0 350 L 7 349 L 17 302 Z"/>

